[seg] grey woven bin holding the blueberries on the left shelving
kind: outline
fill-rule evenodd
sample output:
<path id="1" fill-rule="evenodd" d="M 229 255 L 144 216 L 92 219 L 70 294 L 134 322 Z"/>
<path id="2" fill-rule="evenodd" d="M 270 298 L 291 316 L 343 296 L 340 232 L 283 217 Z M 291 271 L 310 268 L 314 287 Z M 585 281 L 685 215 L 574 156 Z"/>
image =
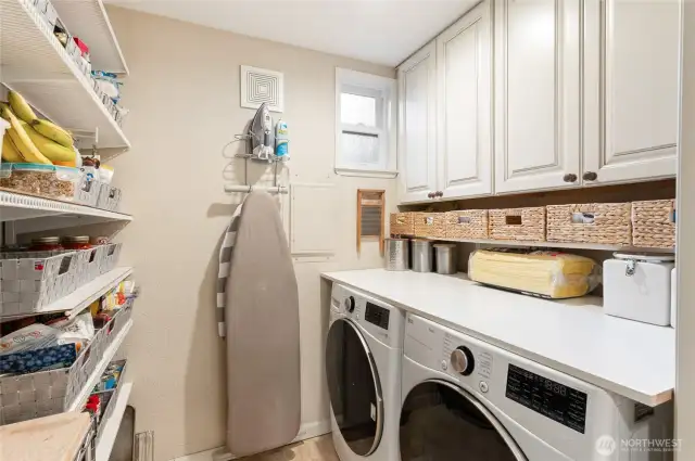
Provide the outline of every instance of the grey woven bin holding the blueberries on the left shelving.
<path id="1" fill-rule="evenodd" d="M 104 351 L 127 323 L 129 308 L 122 308 L 68 368 L 0 376 L 0 425 L 67 411 L 84 390 Z"/>

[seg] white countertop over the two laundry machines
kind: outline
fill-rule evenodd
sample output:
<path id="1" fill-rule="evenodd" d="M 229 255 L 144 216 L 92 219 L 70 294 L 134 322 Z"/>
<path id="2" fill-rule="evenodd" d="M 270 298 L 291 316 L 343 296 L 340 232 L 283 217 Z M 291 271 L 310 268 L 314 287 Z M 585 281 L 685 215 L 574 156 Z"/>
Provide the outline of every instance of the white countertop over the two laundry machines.
<path id="1" fill-rule="evenodd" d="M 541 299 L 463 273 L 368 269 L 321 277 L 639 402 L 672 398 L 675 331 L 606 316 L 601 298 Z"/>

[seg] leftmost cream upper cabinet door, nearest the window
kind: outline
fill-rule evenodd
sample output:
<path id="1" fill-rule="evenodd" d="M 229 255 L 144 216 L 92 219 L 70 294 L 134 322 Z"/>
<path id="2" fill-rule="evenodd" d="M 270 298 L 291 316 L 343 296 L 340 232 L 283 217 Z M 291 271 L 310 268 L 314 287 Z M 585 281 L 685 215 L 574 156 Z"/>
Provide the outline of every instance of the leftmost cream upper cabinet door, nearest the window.
<path id="1" fill-rule="evenodd" d="M 437 190 L 437 63 L 434 42 L 399 67 L 401 202 L 427 201 Z"/>

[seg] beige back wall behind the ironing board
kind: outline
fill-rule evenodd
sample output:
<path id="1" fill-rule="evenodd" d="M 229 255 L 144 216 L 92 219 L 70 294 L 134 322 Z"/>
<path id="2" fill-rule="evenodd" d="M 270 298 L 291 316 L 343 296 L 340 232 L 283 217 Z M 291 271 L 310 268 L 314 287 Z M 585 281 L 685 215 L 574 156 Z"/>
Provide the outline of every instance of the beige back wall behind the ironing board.
<path id="1" fill-rule="evenodd" d="M 125 191 L 122 209 L 135 215 L 119 236 L 122 264 L 136 267 L 143 289 L 127 344 L 137 431 L 154 431 L 157 461 L 225 441 L 226 371 L 214 282 L 218 241 L 238 202 L 223 185 L 225 179 L 243 179 L 242 161 L 225 158 L 223 148 L 254 113 L 239 106 L 241 64 L 285 73 L 291 180 L 329 182 L 337 190 L 332 226 L 321 223 L 321 214 L 305 217 L 336 232 L 336 256 L 295 264 L 302 422 L 325 421 L 327 315 L 318 274 L 382 264 L 374 243 L 356 254 L 356 189 L 386 189 L 389 207 L 395 191 L 394 180 L 333 174 L 334 67 L 390 77 L 393 69 L 117 8 L 109 14 L 130 67 L 123 104 L 131 110 L 125 131 L 132 150 L 111 164 Z M 263 174 L 257 167 L 250 171 L 254 178 Z"/>

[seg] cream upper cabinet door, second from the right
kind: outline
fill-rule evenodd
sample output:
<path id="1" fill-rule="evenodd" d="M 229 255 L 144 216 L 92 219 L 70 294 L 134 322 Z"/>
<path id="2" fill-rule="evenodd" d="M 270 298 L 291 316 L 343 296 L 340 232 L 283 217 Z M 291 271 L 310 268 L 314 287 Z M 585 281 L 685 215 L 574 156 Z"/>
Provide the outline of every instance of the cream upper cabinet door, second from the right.
<path id="1" fill-rule="evenodd" d="M 495 3 L 496 192 L 580 183 L 579 5 Z"/>

